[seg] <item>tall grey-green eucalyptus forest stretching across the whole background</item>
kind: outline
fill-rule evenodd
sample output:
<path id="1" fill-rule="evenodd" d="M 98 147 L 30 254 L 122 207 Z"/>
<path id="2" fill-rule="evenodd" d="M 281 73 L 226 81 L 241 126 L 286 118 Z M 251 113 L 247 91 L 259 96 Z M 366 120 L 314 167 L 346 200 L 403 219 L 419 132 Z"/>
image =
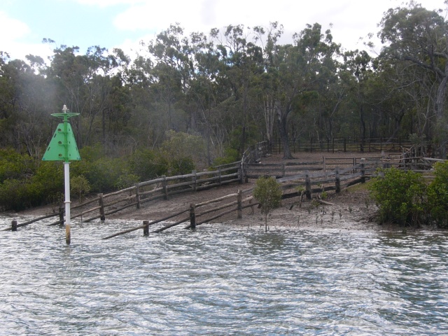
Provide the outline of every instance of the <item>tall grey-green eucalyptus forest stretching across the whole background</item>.
<path id="1" fill-rule="evenodd" d="M 346 50 L 330 29 L 229 25 L 209 34 L 171 25 L 146 54 L 59 45 L 45 61 L 0 52 L 0 146 L 40 159 L 66 104 L 79 148 L 111 157 L 162 148 L 172 132 L 202 138 L 200 165 L 254 141 L 424 139 L 445 158 L 447 21 L 411 2 L 379 20 L 381 53 Z M 44 43 L 54 43 L 44 38 Z M 163 148 L 162 148 L 163 149 Z M 197 156 L 197 155 L 196 155 Z"/>

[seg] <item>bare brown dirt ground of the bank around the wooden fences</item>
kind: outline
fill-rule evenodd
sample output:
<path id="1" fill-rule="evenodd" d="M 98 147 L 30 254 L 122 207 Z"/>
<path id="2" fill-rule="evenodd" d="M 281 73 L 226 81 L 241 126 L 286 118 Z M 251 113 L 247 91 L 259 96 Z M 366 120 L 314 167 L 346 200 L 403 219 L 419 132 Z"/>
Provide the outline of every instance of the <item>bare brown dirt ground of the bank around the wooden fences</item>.
<path id="1" fill-rule="evenodd" d="M 325 158 L 377 158 L 381 153 L 295 153 L 294 160 L 282 160 L 281 155 L 272 155 L 267 158 L 262 158 L 262 163 L 274 162 L 311 162 L 322 160 Z M 141 209 L 128 208 L 108 216 L 107 219 L 121 219 L 121 220 L 148 220 L 153 221 L 159 218 L 169 216 L 184 209 L 189 209 L 190 204 L 204 202 L 207 200 L 214 200 L 224 195 L 237 193 L 237 190 L 247 190 L 253 188 L 255 180 L 251 179 L 244 184 L 231 184 L 209 190 L 202 190 L 196 193 L 183 193 L 180 195 L 173 195 L 169 200 L 157 200 L 142 204 Z M 243 198 L 247 197 L 244 195 Z M 314 198 L 314 196 L 313 196 Z M 235 198 L 230 198 L 225 202 L 233 202 Z M 282 228 L 300 228 L 307 230 L 368 230 L 377 231 L 384 230 L 383 226 L 379 226 L 372 221 L 377 207 L 368 197 L 368 192 L 365 188 L 353 186 L 342 190 L 341 193 L 329 192 L 326 202 L 332 205 L 316 204 L 314 201 L 303 200 L 301 207 L 298 205 L 298 197 L 283 200 L 281 207 L 274 209 L 268 216 L 268 225 L 272 227 Z M 76 202 L 73 202 L 76 204 Z M 222 203 L 221 203 L 222 204 Z M 213 207 L 213 206 L 211 206 Z M 19 215 L 27 216 L 42 216 L 55 211 L 55 207 L 43 207 L 29 209 L 20 212 Z M 200 208 L 210 209 L 207 207 Z M 199 211 L 199 209 L 197 210 Z M 214 214 L 204 215 L 198 217 L 197 221 L 202 221 L 202 218 L 211 218 Z M 187 217 L 188 212 L 173 218 L 170 221 L 177 221 L 180 218 Z M 262 226 L 264 225 L 264 218 L 260 214 L 258 207 L 248 208 L 243 210 L 243 218 L 237 219 L 236 214 L 228 214 L 221 218 L 217 218 L 211 223 L 225 223 L 228 225 L 241 226 Z"/>

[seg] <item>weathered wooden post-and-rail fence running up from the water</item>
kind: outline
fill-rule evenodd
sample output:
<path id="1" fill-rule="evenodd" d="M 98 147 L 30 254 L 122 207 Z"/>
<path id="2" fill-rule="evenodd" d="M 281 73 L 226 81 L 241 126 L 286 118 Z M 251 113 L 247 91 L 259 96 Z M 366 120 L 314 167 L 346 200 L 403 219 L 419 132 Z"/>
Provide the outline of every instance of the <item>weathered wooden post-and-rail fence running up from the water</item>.
<path id="1" fill-rule="evenodd" d="M 251 146 L 244 153 L 243 160 L 233 162 L 228 165 L 215 167 L 210 172 L 195 172 L 181 176 L 161 176 L 159 179 L 137 183 L 136 185 L 118 190 L 114 193 L 99 194 L 92 200 L 88 200 L 83 204 L 72 207 L 72 218 L 80 218 L 82 223 L 88 223 L 97 219 L 104 221 L 106 216 L 123 211 L 130 207 L 140 209 L 143 204 L 155 200 L 168 200 L 169 197 L 181 193 L 197 193 L 200 190 L 209 188 L 219 188 L 219 186 L 228 185 L 230 183 L 242 184 L 248 179 L 257 179 L 260 176 L 274 176 L 276 181 L 281 184 L 283 190 L 283 198 L 300 197 L 305 195 L 307 199 L 311 199 L 312 194 L 322 193 L 323 191 L 333 190 L 339 193 L 343 188 L 347 188 L 356 183 L 363 183 L 375 174 L 378 168 L 396 167 L 398 169 L 413 169 L 417 172 L 428 172 L 432 169 L 437 160 L 433 158 L 405 158 L 400 155 L 384 155 L 372 158 L 325 158 L 314 162 L 286 162 L 281 164 L 261 163 L 261 158 L 267 155 L 266 143 L 260 143 Z M 256 163 L 258 162 L 258 163 Z M 173 221 L 153 232 L 162 232 L 168 228 L 172 228 L 181 223 L 190 221 L 187 228 L 195 228 L 197 225 L 209 223 L 211 221 L 235 212 L 237 218 L 241 218 L 241 210 L 247 207 L 257 205 L 254 202 L 251 192 L 253 189 L 239 190 L 237 193 L 220 197 L 216 200 L 209 200 L 199 204 L 190 204 L 188 209 L 184 209 L 177 214 L 172 214 L 165 218 L 155 221 L 144 221 L 144 224 L 138 228 L 132 228 L 126 232 L 118 232 L 117 235 L 132 232 L 138 229 L 144 229 L 144 234 L 148 234 L 148 228 L 151 225 L 165 221 Z M 243 198 L 244 195 L 244 198 Z M 232 202 L 219 204 L 219 202 Z M 236 198 L 236 200 L 235 200 Z M 213 204 L 211 209 L 206 209 L 207 205 Z M 204 209 L 197 212 L 197 209 Z M 220 212 L 221 211 L 221 212 Z M 96 212 L 96 214 L 94 214 Z M 204 216 L 213 214 L 207 219 Z M 87 216 L 88 215 L 88 216 Z M 182 218 L 179 216 L 183 215 Z M 35 218 L 25 223 L 17 223 L 13 221 L 7 230 L 17 230 L 18 228 L 42 221 L 51 217 L 59 217 L 58 221 L 50 223 L 50 225 L 58 225 L 64 223 L 64 209 L 59 207 L 59 211 L 54 214 L 48 214 L 39 218 Z M 87 216 L 86 219 L 83 217 Z M 197 221 L 197 218 L 201 218 Z M 106 237 L 109 239 L 111 237 Z"/>

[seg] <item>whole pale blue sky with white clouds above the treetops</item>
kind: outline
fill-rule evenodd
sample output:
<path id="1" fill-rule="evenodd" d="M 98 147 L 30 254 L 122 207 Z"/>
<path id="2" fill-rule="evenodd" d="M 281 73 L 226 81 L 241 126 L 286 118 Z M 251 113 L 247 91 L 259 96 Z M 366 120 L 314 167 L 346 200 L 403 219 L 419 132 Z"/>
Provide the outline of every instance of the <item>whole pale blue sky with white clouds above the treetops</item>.
<path id="1" fill-rule="evenodd" d="M 416 0 L 428 10 L 445 9 L 444 0 Z M 1 0 L 0 51 L 11 59 L 38 55 L 46 59 L 60 45 L 78 46 L 80 54 L 99 45 L 122 48 L 129 56 L 139 52 L 140 41 L 151 41 L 169 25 L 179 22 L 187 32 L 228 25 L 284 27 L 282 43 L 295 32 L 318 23 L 331 29 L 333 41 L 346 50 L 365 49 L 367 35 L 376 35 L 388 8 L 402 0 Z M 445 13 L 445 11 L 444 11 Z M 444 13 L 442 15 L 444 15 Z M 50 38 L 54 44 L 42 43 Z M 360 40 L 363 38 L 363 40 Z M 379 45 L 379 41 L 374 41 Z"/>

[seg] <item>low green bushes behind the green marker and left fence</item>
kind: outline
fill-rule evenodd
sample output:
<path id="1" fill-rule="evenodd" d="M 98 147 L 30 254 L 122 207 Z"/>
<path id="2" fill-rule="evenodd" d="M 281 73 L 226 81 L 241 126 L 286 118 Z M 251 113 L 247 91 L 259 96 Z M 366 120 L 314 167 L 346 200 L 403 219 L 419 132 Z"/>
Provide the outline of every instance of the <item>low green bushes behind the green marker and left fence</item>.
<path id="1" fill-rule="evenodd" d="M 160 149 L 138 150 L 112 158 L 102 146 L 80 149 L 80 161 L 71 161 L 73 197 L 127 188 L 162 175 L 190 174 L 205 167 L 201 137 L 170 132 Z M 61 202 L 64 193 L 62 162 L 40 161 L 14 150 L 0 150 L 0 207 L 22 210 Z"/>

